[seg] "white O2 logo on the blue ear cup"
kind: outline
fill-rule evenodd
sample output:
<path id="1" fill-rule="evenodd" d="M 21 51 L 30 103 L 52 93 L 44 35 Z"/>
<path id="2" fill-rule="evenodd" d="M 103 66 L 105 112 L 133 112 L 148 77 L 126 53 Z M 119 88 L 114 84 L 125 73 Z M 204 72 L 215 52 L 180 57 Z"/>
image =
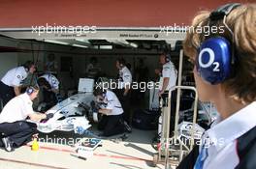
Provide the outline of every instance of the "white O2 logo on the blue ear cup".
<path id="1" fill-rule="evenodd" d="M 208 56 L 209 56 L 208 63 L 203 63 L 203 61 L 202 61 L 202 56 L 205 52 L 208 52 Z M 204 48 L 199 53 L 198 62 L 199 62 L 199 66 L 201 68 L 208 68 L 211 65 L 213 65 L 214 66 L 213 71 L 220 71 L 219 70 L 219 63 L 214 62 L 214 60 L 215 60 L 215 54 L 214 54 L 214 51 L 211 48 Z"/>

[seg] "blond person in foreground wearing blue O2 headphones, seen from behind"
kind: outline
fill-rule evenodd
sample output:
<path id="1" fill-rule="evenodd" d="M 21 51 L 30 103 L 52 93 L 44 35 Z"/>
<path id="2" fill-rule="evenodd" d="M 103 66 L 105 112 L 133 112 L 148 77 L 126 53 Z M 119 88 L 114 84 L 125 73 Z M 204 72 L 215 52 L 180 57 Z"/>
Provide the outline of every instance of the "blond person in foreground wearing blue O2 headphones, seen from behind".
<path id="1" fill-rule="evenodd" d="M 199 99 L 213 103 L 219 116 L 177 169 L 256 168 L 255 15 L 255 3 L 233 3 L 193 19 L 193 28 L 222 28 L 187 32 L 183 42 Z"/>

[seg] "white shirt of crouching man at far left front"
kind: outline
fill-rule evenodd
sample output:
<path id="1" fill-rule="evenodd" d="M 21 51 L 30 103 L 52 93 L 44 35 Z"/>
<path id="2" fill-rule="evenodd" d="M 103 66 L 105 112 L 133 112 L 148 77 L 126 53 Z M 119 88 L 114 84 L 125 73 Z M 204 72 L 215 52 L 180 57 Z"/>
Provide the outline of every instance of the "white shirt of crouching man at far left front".
<path id="1" fill-rule="evenodd" d="M 25 120 L 29 114 L 34 113 L 32 104 L 26 93 L 11 99 L 0 114 L 0 124 Z"/>

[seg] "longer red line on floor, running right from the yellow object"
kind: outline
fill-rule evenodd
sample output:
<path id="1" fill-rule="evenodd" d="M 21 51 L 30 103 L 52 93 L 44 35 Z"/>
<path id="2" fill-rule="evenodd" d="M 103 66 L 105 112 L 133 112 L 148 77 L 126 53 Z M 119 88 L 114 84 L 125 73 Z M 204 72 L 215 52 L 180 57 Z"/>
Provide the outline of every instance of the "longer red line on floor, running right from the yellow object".
<path id="1" fill-rule="evenodd" d="M 26 145 L 30 147 L 30 145 Z M 49 151 L 56 151 L 56 152 L 65 152 L 65 153 L 76 153 L 73 150 L 67 150 L 67 149 L 58 149 L 58 148 L 50 148 L 46 146 L 40 146 L 39 149 L 43 150 L 49 150 Z M 119 155 L 104 155 L 104 154 L 93 154 L 95 156 L 102 156 L 102 157 L 109 157 L 109 158 L 118 158 L 118 159 L 128 159 L 128 160 L 141 160 L 141 161 L 152 161 L 152 159 L 144 159 L 139 157 L 130 157 L 130 156 L 119 156 Z"/>

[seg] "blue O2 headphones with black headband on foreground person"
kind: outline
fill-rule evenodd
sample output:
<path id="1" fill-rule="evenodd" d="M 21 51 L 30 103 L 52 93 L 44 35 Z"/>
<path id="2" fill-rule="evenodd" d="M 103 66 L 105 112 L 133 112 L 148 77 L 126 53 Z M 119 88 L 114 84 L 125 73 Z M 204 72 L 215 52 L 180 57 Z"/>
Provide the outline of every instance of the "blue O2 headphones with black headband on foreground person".
<path id="1" fill-rule="evenodd" d="M 225 19 L 240 4 L 227 4 L 209 14 L 210 21 Z M 230 30 L 229 27 L 226 28 Z M 231 31 L 233 36 L 233 32 Z M 196 68 L 200 76 L 210 84 L 218 84 L 229 78 L 235 64 L 234 42 L 229 42 L 224 37 L 213 37 L 202 42 L 199 47 L 199 54 L 196 58 Z"/>

